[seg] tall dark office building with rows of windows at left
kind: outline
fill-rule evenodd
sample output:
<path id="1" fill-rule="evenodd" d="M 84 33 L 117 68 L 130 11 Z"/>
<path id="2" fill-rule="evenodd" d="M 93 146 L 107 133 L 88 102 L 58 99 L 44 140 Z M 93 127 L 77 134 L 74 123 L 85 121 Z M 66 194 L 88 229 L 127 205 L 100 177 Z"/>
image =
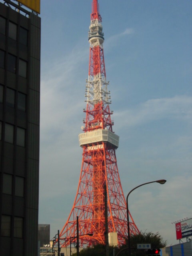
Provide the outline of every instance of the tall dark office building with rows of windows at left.
<path id="1" fill-rule="evenodd" d="M 40 18 L 0 0 L 0 256 L 38 255 Z"/>

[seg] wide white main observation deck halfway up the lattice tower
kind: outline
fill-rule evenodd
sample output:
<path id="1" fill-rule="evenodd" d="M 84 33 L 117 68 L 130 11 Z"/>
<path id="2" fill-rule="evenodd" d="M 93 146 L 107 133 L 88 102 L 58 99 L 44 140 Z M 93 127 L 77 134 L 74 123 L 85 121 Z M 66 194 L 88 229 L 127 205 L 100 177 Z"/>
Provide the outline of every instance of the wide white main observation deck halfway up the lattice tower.
<path id="1" fill-rule="evenodd" d="M 119 146 L 119 136 L 109 130 L 95 130 L 92 132 L 84 132 L 79 134 L 79 145 L 92 145 L 96 142 L 108 142 L 115 148 Z"/>

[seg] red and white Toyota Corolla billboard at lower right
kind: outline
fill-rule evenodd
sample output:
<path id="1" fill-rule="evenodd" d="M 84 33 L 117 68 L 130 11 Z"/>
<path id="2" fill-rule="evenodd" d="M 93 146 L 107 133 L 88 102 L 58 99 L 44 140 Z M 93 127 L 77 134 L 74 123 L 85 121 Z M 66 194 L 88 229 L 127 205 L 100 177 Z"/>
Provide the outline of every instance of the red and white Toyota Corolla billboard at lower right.
<path id="1" fill-rule="evenodd" d="M 177 240 L 192 236 L 192 218 L 176 223 L 175 228 Z"/>

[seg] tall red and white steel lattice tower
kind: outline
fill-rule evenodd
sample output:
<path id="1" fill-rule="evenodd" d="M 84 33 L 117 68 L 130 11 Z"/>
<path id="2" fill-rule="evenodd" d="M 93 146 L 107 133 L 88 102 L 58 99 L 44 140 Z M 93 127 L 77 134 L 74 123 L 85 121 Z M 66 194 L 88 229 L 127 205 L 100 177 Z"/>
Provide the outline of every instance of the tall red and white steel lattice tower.
<path id="1" fill-rule="evenodd" d="M 80 245 L 105 243 L 104 184 L 107 187 L 108 232 L 118 234 L 118 244 L 127 237 L 126 200 L 120 183 L 115 150 L 119 136 L 111 120 L 110 91 L 106 81 L 102 32 L 102 18 L 98 0 L 92 2 L 89 29 L 90 60 L 89 76 L 86 80 L 86 118 L 79 143 L 83 149 L 80 180 L 74 205 L 68 220 L 60 232 L 62 246 L 68 246 L 70 237 L 77 236 L 76 218 L 79 221 Z M 130 214 L 130 213 L 129 213 Z M 130 233 L 138 234 L 130 215 Z M 84 234 L 92 233 L 93 236 Z M 75 240 L 75 239 L 74 239 Z M 73 240 L 73 241 L 74 241 Z"/>

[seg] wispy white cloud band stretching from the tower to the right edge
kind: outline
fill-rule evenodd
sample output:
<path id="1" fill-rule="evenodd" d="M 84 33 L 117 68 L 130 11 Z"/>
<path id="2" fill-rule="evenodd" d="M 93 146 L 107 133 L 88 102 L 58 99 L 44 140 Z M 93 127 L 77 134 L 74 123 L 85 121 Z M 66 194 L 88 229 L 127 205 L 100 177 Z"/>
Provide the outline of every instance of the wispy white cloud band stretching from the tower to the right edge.
<path id="1" fill-rule="evenodd" d="M 126 118 L 124 118 L 126 116 Z M 137 126 L 164 118 L 192 120 L 192 97 L 175 96 L 147 100 L 134 108 L 114 112 L 118 126 Z"/>

